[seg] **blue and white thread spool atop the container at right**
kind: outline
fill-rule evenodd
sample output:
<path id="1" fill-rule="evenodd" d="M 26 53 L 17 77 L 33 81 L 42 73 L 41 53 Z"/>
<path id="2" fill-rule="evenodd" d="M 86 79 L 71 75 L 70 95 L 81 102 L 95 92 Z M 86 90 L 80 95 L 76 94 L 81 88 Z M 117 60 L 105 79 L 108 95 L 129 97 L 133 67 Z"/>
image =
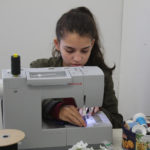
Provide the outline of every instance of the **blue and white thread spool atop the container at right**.
<path id="1" fill-rule="evenodd" d="M 145 115 L 143 113 L 138 113 L 135 114 L 133 116 L 133 121 L 138 122 L 140 125 L 144 125 L 145 127 L 147 127 L 147 123 L 146 123 L 146 119 L 145 119 Z"/>

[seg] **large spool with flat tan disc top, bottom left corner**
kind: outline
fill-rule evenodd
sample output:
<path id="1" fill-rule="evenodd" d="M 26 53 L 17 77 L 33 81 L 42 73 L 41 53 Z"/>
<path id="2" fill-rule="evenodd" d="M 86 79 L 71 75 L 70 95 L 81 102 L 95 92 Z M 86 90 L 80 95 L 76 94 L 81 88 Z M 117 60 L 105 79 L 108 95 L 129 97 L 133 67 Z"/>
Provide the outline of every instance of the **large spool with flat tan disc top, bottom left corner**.
<path id="1" fill-rule="evenodd" d="M 24 132 L 16 129 L 0 130 L 0 150 L 18 150 L 18 142 L 25 137 Z"/>

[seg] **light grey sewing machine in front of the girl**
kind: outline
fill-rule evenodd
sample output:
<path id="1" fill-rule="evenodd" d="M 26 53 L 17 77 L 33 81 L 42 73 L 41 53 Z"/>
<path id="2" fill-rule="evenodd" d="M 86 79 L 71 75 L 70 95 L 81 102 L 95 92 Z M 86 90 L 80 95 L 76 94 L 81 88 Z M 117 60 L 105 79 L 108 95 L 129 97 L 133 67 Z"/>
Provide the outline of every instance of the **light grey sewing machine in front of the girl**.
<path id="1" fill-rule="evenodd" d="M 112 142 L 112 125 L 103 112 L 88 116 L 87 127 L 42 119 L 42 101 L 47 98 L 71 97 L 79 108 L 102 106 L 104 75 L 98 67 L 26 68 L 18 76 L 2 70 L 2 79 L 3 127 L 25 132 L 20 149 L 65 149 L 81 140 L 94 145 Z"/>

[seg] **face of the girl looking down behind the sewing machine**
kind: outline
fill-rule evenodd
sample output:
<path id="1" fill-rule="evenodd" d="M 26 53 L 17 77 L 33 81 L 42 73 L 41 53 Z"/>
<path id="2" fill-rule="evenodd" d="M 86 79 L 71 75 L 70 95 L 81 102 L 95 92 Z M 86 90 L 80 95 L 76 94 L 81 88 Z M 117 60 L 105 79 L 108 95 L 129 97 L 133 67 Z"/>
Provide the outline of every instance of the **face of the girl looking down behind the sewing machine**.
<path id="1" fill-rule="evenodd" d="M 84 66 L 90 57 L 94 41 L 88 36 L 68 32 L 60 42 L 55 39 L 54 44 L 61 53 L 63 66 Z"/>

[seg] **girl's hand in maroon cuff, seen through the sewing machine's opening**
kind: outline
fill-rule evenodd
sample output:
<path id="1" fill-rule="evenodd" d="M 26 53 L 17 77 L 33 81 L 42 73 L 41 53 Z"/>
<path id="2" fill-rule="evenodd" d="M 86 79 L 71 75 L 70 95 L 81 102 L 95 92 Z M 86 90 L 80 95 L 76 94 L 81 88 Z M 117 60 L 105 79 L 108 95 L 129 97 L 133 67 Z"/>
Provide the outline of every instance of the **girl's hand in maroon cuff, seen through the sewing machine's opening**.
<path id="1" fill-rule="evenodd" d="M 61 107 L 59 112 L 59 119 L 80 127 L 86 127 L 86 123 L 78 112 L 78 109 L 73 105 L 65 105 Z"/>

